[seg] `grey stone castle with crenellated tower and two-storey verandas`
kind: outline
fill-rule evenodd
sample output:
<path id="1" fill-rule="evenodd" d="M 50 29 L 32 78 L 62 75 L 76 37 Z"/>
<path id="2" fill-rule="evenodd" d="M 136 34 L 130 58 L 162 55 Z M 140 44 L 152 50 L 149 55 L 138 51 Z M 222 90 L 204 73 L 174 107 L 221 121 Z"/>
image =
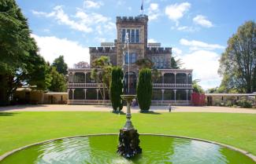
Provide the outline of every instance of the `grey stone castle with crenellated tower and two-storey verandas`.
<path id="1" fill-rule="evenodd" d="M 161 78 L 153 83 L 152 104 L 190 104 L 193 91 L 192 70 L 171 69 L 172 48 L 147 42 L 147 22 L 147 15 L 117 16 L 117 39 L 114 42 L 102 42 L 100 47 L 90 47 L 91 63 L 99 56 L 109 56 L 112 65 L 124 68 L 124 92 L 129 85 L 130 91 L 135 93 L 139 75 L 135 61 L 150 59 L 154 68 L 161 72 Z M 129 53 L 124 51 L 125 35 L 129 38 Z M 69 68 L 68 74 L 68 104 L 109 103 L 109 100 L 102 100 L 99 94 L 98 86 L 102 85 L 91 79 L 91 68 Z"/>

